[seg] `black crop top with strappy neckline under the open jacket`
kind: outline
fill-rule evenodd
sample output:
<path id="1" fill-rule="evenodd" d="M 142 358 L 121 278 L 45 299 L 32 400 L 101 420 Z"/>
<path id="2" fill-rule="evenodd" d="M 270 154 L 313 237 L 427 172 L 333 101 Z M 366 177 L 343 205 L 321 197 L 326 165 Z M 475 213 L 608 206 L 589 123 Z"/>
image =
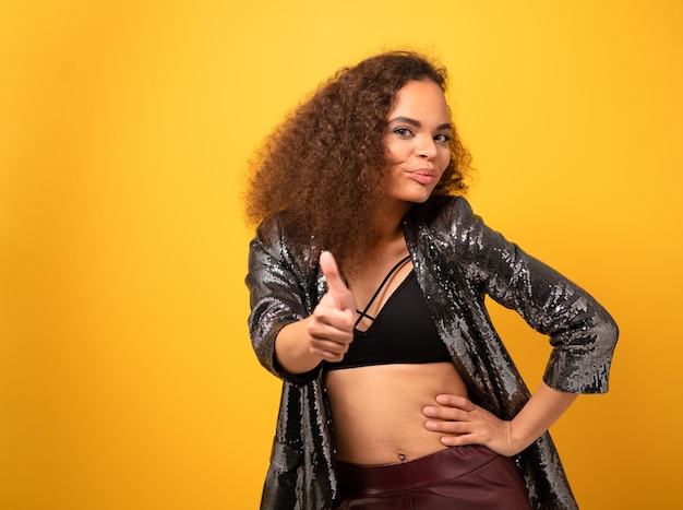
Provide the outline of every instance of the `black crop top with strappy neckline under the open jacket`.
<path id="1" fill-rule="evenodd" d="M 368 317 L 364 312 L 360 313 Z M 325 369 L 450 360 L 451 355 L 427 309 L 415 271 L 410 271 L 388 297 L 370 328 L 366 331 L 354 330 L 354 342 L 344 359 L 325 363 Z"/>

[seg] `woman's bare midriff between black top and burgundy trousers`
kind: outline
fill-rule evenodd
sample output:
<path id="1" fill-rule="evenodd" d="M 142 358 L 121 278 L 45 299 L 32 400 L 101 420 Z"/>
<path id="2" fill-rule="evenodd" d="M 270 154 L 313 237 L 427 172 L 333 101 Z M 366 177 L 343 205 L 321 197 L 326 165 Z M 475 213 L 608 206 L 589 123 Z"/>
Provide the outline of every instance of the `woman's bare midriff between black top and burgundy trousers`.
<path id="1" fill-rule="evenodd" d="M 325 387 L 332 405 L 336 458 L 362 465 L 419 459 L 447 447 L 442 432 L 424 427 L 436 395 L 467 396 L 451 363 L 373 365 L 331 370 Z"/>

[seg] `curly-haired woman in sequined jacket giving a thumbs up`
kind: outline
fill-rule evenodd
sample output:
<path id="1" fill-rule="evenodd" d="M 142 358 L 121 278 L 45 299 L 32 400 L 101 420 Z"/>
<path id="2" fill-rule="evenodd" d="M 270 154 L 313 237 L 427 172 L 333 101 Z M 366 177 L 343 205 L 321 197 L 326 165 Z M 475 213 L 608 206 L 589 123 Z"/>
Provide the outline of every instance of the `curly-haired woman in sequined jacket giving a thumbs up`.
<path id="1" fill-rule="evenodd" d="M 252 162 L 249 325 L 284 380 L 262 508 L 576 508 L 547 430 L 607 391 L 616 325 L 472 213 L 445 82 L 369 58 Z M 532 396 L 486 295 L 550 336 Z"/>

